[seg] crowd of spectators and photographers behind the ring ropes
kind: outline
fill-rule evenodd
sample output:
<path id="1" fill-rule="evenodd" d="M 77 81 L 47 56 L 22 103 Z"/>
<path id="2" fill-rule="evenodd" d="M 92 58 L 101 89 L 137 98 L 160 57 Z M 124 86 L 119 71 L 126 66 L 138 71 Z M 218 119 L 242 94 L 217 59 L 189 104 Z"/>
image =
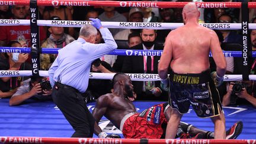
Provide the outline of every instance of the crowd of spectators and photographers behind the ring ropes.
<path id="1" fill-rule="evenodd" d="M 163 0 L 164 1 L 164 0 Z M 166 1 L 166 0 L 165 0 Z M 177 2 L 182 2 L 178 0 Z M 204 0 L 204 2 L 209 2 Z M 211 1 L 212 2 L 212 1 Z M 239 0 L 223 0 L 216 2 L 242 2 Z M 239 8 L 200 8 L 200 23 L 240 23 Z M 0 18 L 12 20 L 29 20 L 29 6 L 0 5 Z M 76 20 L 89 21 L 89 18 L 99 18 L 101 21 L 144 22 L 144 23 L 183 23 L 182 8 L 119 8 L 119 7 L 39 7 L 40 20 Z M 255 9 L 249 9 L 250 23 L 256 23 Z M 109 28 L 119 45 L 118 49 L 162 50 L 165 37 L 171 30 L 149 30 L 129 28 Z M 62 48 L 78 38 L 80 28 L 73 27 L 40 27 L 40 46 Z M 215 30 L 219 42 L 235 43 L 238 47 L 222 47 L 223 50 L 241 50 L 242 36 L 239 30 Z M 252 50 L 256 50 L 256 30 L 251 30 Z M 121 41 L 120 43 L 118 41 Z M 181 41 L 185 42 L 185 41 Z M 98 32 L 95 43 L 104 43 Z M 241 47 L 239 47 L 239 44 Z M 0 26 L 0 46 L 30 47 L 30 26 Z M 68 53 L 67 53 L 68 55 Z M 40 54 L 41 70 L 49 70 L 57 55 Z M 159 56 L 114 56 L 105 55 L 92 63 L 91 72 L 103 73 L 157 73 Z M 241 74 L 243 59 L 241 57 L 226 57 L 228 64 L 226 74 Z M 248 71 L 256 74 L 256 60 L 249 59 Z M 29 70 L 30 56 L 27 54 L 1 53 L 0 70 Z M 210 69 L 215 71 L 215 63 L 210 58 Z M 9 105 L 21 104 L 28 98 L 49 100 L 38 95 L 50 95 L 50 92 L 40 93 L 40 82 L 45 78 L 9 77 L 0 78 L 0 98 L 11 97 Z M 222 104 L 239 105 L 251 104 L 256 107 L 256 87 L 254 81 L 242 81 L 244 88 L 241 92 L 233 92 L 235 82 L 224 82 L 218 89 Z M 21 87 L 27 85 L 25 88 Z M 167 101 L 167 92 L 162 91 L 159 82 L 133 81 L 137 100 Z M 25 90 L 23 90 L 25 89 Z M 86 101 L 95 100 L 100 95 L 111 92 L 110 80 L 90 79 Z M 47 89 L 46 89 L 47 90 Z M 19 97 L 17 97 L 17 95 Z M 34 97 L 36 96 L 36 97 Z M 15 98 L 14 98 L 15 97 Z"/>

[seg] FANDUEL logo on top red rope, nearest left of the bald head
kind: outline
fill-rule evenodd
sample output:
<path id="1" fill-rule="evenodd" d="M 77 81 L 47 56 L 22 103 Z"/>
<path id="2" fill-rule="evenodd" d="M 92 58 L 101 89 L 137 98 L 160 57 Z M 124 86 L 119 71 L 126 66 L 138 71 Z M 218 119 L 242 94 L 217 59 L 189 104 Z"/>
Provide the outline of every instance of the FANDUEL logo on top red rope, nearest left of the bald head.
<path id="1" fill-rule="evenodd" d="M 120 7 L 151 7 L 158 8 L 156 2 L 120 2 Z"/>

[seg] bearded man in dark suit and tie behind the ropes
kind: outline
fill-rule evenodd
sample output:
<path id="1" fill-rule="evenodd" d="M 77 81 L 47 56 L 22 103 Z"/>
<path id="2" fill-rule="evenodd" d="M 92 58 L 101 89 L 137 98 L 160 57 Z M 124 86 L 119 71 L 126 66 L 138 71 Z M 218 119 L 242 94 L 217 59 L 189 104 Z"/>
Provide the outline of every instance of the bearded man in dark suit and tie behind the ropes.
<path id="1" fill-rule="evenodd" d="M 162 50 L 162 46 L 155 43 L 155 30 L 143 29 L 140 33 L 142 43 L 131 47 L 135 50 Z M 127 56 L 123 62 L 124 73 L 158 73 L 158 60 L 160 56 Z M 167 100 L 165 92 L 160 88 L 159 81 L 134 81 L 133 82 L 137 100 Z M 159 96 L 162 95 L 161 99 Z"/>

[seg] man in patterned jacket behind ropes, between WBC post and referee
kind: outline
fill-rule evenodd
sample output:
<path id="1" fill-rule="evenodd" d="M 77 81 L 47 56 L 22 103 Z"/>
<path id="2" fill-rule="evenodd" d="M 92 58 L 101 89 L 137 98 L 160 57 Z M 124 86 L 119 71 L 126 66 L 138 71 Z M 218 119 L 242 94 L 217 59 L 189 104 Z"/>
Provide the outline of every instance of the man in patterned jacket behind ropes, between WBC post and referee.
<path id="1" fill-rule="evenodd" d="M 50 20 L 61 20 L 59 17 L 53 16 Z M 50 48 L 62 48 L 67 44 L 71 43 L 75 39 L 69 34 L 64 33 L 63 27 L 49 27 L 48 31 L 50 33 L 49 38 L 44 41 L 41 47 L 50 47 Z M 48 70 L 57 55 L 55 54 L 40 54 L 41 60 L 41 69 Z"/>

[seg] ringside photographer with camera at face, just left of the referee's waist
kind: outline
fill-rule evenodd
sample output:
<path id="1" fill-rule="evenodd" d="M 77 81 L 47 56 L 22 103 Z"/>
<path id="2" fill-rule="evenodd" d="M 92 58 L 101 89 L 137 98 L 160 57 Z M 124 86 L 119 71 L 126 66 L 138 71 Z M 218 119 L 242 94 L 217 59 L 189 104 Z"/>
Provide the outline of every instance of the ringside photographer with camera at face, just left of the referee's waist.
<path id="1" fill-rule="evenodd" d="M 31 76 L 23 82 L 9 100 L 9 105 L 18 105 L 29 98 L 39 101 L 52 100 L 52 87 L 44 77 Z"/>

